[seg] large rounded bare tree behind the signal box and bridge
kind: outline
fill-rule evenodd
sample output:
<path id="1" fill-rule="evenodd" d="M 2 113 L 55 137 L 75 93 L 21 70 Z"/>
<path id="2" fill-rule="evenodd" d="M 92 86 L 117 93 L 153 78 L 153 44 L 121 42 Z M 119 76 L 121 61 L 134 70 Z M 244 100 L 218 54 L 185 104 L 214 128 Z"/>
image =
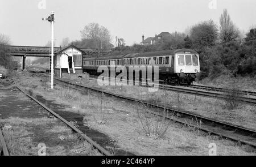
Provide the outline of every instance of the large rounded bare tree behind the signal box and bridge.
<path id="1" fill-rule="evenodd" d="M 89 23 L 81 31 L 82 40 L 89 41 L 89 45 L 93 46 L 99 52 L 102 49 L 109 49 L 111 45 L 110 32 L 107 28 L 98 23 Z"/>

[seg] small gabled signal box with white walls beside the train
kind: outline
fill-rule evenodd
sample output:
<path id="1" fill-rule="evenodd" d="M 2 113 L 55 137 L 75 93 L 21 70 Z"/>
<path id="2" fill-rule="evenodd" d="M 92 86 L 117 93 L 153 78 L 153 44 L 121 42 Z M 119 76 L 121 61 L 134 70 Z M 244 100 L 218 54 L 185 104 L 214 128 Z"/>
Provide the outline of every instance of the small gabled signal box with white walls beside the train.
<path id="1" fill-rule="evenodd" d="M 82 73 L 82 55 L 85 52 L 73 44 L 57 50 L 53 61 L 55 75 L 61 78 L 61 73 Z"/>

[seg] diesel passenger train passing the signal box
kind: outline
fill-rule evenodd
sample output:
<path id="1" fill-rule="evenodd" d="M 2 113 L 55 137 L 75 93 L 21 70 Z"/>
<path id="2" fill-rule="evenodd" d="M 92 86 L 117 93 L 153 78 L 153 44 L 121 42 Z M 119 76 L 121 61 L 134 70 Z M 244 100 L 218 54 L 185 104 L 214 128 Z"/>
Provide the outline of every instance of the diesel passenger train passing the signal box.
<path id="1" fill-rule="evenodd" d="M 158 66 L 159 82 L 166 84 L 191 84 L 200 72 L 199 54 L 190 49 L 83 58 L 83 72 L 99 75 L 97 72 L 99 66 L 107 66 L 109 71 L 110 66 L 124 66 L 127 72 L 129 67 L 134 66 L 146 66 L 146 69 L 149 66 L 152 68 Z M 128 76 L 127 74 L 127 78 Z"/>

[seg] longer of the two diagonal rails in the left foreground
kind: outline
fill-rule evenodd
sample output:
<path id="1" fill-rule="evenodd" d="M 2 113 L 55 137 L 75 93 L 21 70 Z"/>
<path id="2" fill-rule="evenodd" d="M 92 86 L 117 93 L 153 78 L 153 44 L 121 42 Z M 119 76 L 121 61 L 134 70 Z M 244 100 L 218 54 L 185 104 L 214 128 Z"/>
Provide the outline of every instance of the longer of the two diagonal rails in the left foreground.
<path id="1" fill-rule="evenodd" d="M 17 84 L 16 87 L 19 89 L 20 92 L 24 93 L 27 97 L 29 97 L 31 100 L 35 101 L 37 104 L 42 106 L 44 109 L 46 109 L 49 113 L 54 115 L 56 118 L 60 119 L 62 122 L 64 122 L 67 126 L 69 126 L 73 131 L 77 132 L 84 140 L 86 140 L 88 143 L 92 144 L 94 148 L 98 149 L 103 155 L 105 156 L 112 156 L 112 154 L 107 151 L 105 148 L 101 147 L 101 145 L 94 142 L 92 139 L 90 139 L 88 136 L 86 136 L 81 130 L 77 129 L 77 127 L 73 126 L 70 122 L 68 122 L 66 119 L 61 117 L 59 114 L 53 112 L 53 110 L 49 109 L 46 105 L 44 105 L 42 102 L 35 99 L 35 97 L 32 97 L 28 95 L 22 88 L 20 88 Z"/>

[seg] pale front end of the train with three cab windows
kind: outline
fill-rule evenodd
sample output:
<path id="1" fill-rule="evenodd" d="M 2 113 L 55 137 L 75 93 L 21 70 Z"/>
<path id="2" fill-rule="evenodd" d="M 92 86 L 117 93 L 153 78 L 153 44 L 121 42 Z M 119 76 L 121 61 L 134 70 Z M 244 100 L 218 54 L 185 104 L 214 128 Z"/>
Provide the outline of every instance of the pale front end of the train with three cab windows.
<path id="1" fill-rule="evenodd" d="M 174 72 L 179 76 L 178 83 L 191 84 L 200 72 L 199 54 L 176 53 Z"/>

